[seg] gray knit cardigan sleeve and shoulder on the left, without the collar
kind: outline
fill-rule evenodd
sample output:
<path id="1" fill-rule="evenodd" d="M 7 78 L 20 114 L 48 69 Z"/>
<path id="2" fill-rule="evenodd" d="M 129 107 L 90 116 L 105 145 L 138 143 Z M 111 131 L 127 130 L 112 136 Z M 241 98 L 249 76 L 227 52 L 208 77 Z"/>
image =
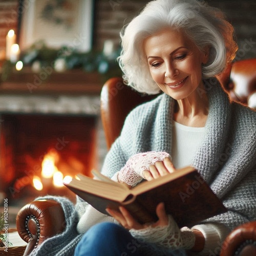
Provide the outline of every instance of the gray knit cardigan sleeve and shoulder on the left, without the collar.
<path id="1" fill-rule="evenodd" d="M 121 134 L 112 144 L 103 162 L 101 169 L 103 175 L 112 177 L 131 156 L 152 151 L 151 140 L 154 136 L 152 135 L 152 127 L 161 100 L 162 95 L 152 101 L 140 104 L 125 118 Z M 156 151 L 164 151 L 160 148 L 156 149 Z"/>

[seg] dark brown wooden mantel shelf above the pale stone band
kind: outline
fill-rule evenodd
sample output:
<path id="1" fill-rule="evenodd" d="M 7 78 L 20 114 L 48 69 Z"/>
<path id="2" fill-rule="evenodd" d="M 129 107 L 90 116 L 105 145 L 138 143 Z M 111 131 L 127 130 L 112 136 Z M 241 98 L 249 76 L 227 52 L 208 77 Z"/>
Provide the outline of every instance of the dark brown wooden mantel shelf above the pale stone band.
<path id="1" fill-rule="evenodd" d="M 42 70 L 14 71 L 0 83 L 0 93 L 6 94 L 92 94 L 99 95 L 105 78 L 99 73 L 69 70 L 63 73 Z"/>

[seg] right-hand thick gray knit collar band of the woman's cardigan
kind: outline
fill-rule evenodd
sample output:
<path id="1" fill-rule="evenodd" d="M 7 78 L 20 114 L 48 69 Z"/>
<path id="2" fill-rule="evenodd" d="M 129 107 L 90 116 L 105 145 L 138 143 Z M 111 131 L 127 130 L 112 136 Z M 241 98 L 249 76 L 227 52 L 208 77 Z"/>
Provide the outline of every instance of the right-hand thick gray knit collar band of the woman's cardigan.
<path id="1" fill-rule="evenodd" d="M 205 123 L 205 138 L 195 154 L 192 165 L 206 182 L 218 171 L 219 158 L 224 151 L 231 122 L 231 104 L 217 79 L 204 81 L 209 99 L 209 113 Z"/>

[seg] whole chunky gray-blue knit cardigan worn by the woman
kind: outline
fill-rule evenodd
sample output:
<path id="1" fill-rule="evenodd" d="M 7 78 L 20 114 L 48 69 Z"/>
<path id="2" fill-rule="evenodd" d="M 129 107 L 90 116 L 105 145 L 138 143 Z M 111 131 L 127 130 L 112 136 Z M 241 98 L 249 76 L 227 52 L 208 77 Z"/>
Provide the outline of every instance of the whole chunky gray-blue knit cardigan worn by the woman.
<path id="1" fill-rule="evenodd" d="M 205 81 L 205 88 L 198 93 L 207 93 L 209 98 L 206 134 L 191 164 L 228 209 L 204 222 L 223 223 L 231 230 L 256 220 L 256 112 L 230 102 L 220 84 L 212 79 Z M 112 177 L 139 152 L 165 151 L 172 155 L 174 103 L 173 98 L 162 94 L 133 110 L 105 158 L 102 173 Z M 65 211 L 67 228 L 32 255 L 72 255 L 81 238 L 76 233 L 75 208 L 65 198 L 56 200 Z"/>

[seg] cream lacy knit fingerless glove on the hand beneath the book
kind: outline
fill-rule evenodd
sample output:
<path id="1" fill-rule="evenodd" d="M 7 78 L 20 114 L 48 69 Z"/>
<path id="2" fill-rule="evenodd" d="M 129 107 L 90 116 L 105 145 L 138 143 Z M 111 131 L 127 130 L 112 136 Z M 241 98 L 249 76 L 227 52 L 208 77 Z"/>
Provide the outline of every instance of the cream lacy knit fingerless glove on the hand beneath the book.
<path id="1" fill-rule="evenodd" d="M 140 242 L 154 243 L 169 249 L 191 249 L 195 245 L 195 234 L 191 229 L 188 227 L 179 229 L 170 215 L 167 226 L 131 229 L 130 233 Z"/>

